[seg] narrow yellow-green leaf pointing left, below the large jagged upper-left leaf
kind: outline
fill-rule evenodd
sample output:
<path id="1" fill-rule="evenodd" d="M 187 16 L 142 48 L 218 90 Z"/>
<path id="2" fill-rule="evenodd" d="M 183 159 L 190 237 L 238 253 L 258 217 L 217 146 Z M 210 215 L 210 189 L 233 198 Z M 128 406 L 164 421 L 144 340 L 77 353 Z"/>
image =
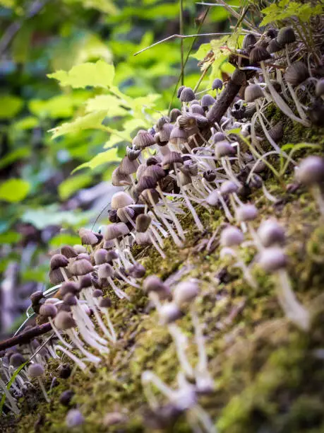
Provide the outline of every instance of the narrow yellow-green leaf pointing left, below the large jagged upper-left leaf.
<path id="1" fill-rule="evenodd" d="M 63 123 L 59 127 L 49 129 L 52 132 L 52 139 L 60 137 L 64 134 L 69 134 L 71 132 L 80 132 L 84 129 L 103 129 L 102 120 L 106 115 L 105 111 L 91 112 L 83 117 L 77 117 L 72 122 Z"/>

